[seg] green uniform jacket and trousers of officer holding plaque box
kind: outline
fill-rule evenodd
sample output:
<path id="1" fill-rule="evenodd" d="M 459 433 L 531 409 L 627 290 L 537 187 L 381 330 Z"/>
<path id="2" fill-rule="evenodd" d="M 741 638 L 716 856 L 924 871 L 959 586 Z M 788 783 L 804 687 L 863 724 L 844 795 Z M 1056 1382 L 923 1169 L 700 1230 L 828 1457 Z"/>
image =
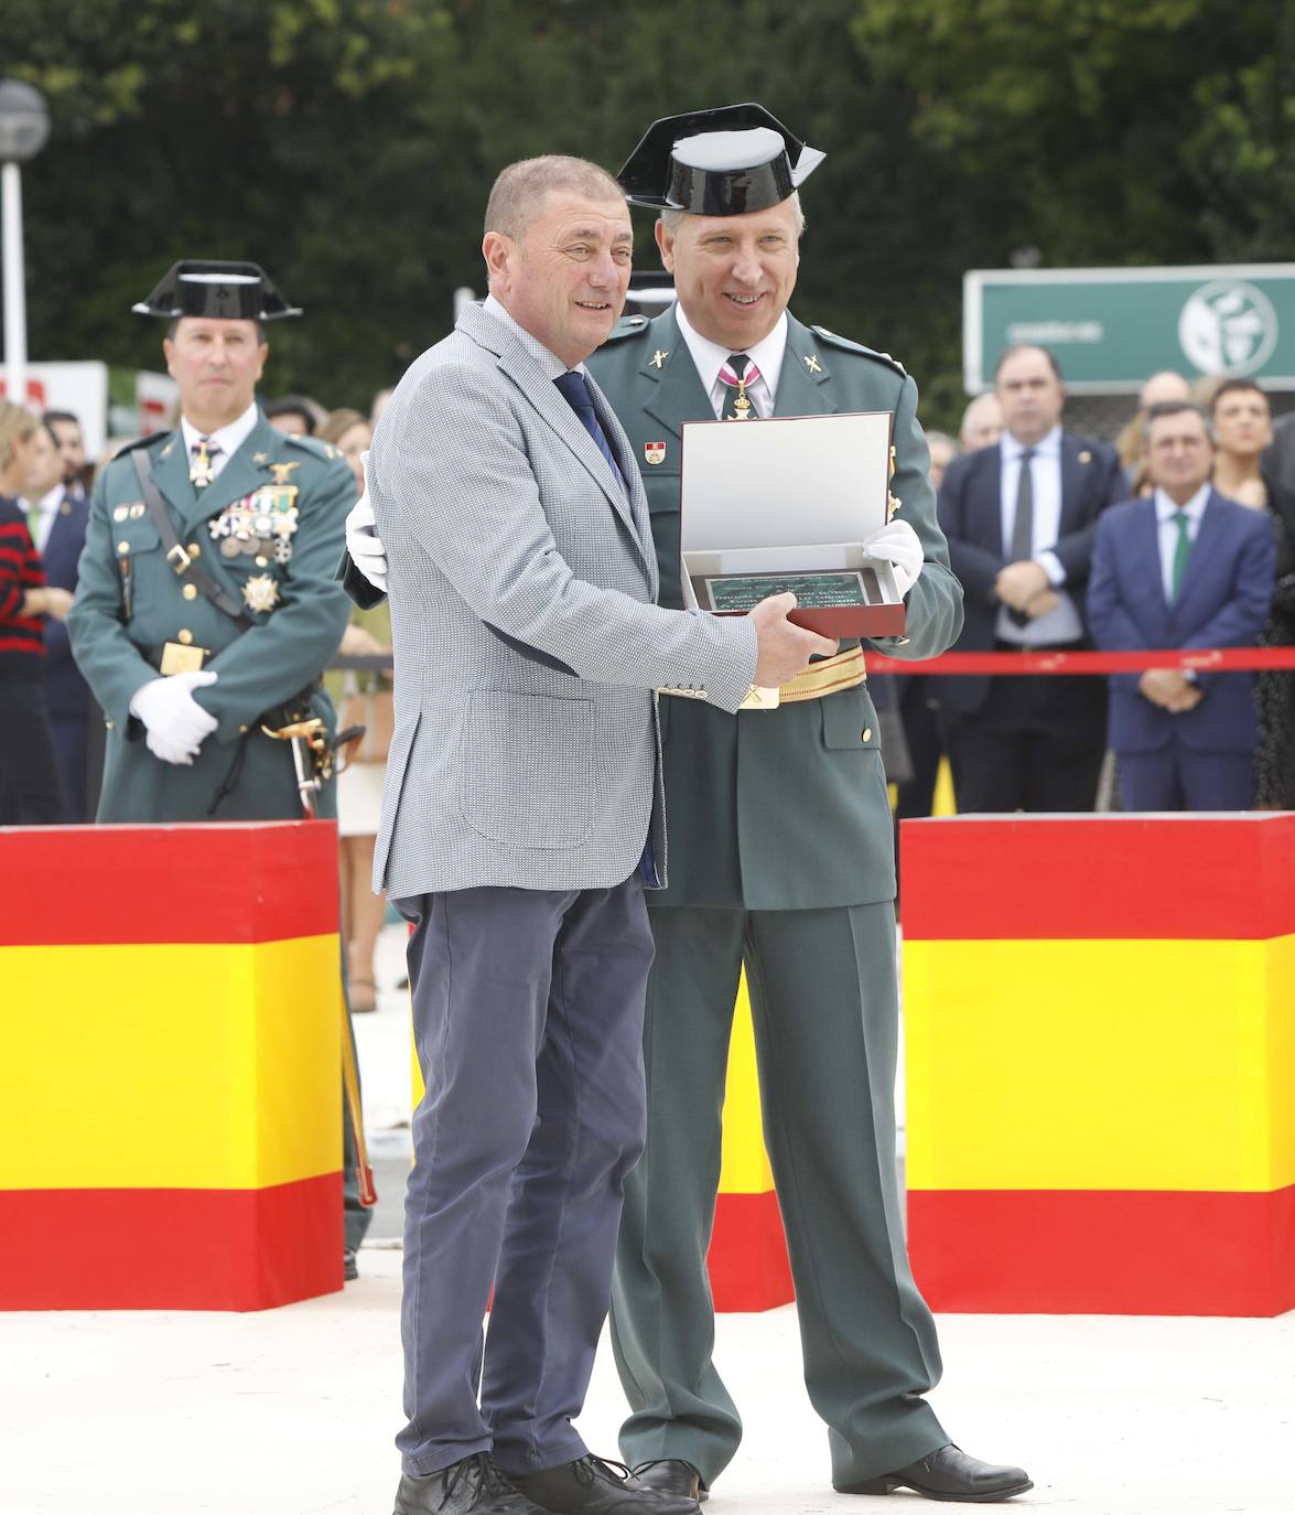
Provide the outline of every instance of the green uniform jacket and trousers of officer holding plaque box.
<path id="1" fill-rule="evenodd" d="M 680 430 L 713 409 L 674 311 L 623 321 L 589 370 L 639 459 L 660 603 L 679 608 Z M 962 626 L 916 398 L 891 358 L 788 318 L 777 415 L 895 417 L 892 491 L 925 565 L 906 635 L 877 650 L 913 659 L 944 651 Z M 669 886 L 648 895 L 648 1142 L 627 1182 L 612 1304 L 633 1409 L 623 1454 L 683 1459 L 710 1483 L 741 1436 L 710 1360 L 706 1250 L 745 961 L 806 1382 L 830 1427 L 833 1482 L 848 1486 L 948 1441 L 921 1398 L 939 1350 L 895 1177 L 895 868 L 877 714 L 859 685 L 736 720 L 663 697 L 660 724 Z"/>

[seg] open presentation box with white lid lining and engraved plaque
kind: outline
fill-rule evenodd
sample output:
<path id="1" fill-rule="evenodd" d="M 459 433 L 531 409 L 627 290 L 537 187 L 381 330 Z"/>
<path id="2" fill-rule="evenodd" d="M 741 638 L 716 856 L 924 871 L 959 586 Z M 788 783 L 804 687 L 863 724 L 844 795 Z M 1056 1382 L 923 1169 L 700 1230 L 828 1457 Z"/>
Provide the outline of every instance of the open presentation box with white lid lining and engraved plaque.
<path id="1" fill-rule="evenodd" d="M 747 601 L 800 589 L 801 601 L 816 603 L 792 611 L 797 626 L 822 636 L 903 635 L 894 568 L 862 545 L 889 514 L 892 420 L 878 411 L 775 417 L 754 426 L 688 421 L 683 603 L 742 615 Z M 741 608 L 715 609 L 721 604 Z"/>

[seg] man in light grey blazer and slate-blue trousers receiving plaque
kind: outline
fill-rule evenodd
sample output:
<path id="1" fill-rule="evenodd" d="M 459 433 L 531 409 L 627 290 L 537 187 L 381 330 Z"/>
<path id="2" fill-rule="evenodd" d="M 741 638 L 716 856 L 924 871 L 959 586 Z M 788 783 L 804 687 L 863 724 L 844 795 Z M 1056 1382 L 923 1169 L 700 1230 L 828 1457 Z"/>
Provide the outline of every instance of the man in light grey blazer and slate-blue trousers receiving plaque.
<path id="1" fill-rule="evenodd" d="M 627 1488 L 571 1424 L 644 1141 L 642 891 L 666 862 L 653 689 L 733 712 L 835 644 L 786 621 L 791 595 L 739 620 L 653 603 L 638 468 L 583 373 L 630 247 L 603 170 L 504 170 L 491 297 L 412 365 L 368 458 L 395 645 L 374 885 L 413 927 L 427 1083 L 397 1515 L 697 1509 Z"/>

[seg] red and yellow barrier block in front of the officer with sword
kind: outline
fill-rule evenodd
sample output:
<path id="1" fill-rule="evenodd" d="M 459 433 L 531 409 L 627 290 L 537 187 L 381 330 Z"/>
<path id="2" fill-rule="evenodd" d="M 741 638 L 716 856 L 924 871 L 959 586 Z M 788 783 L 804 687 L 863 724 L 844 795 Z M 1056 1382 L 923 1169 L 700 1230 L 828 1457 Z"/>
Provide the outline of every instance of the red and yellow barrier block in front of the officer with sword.
<path id="1" fill-rule="evenodd" d="M 0 1309 L 339 1289 L 335 827 L 0 829 Z"/>

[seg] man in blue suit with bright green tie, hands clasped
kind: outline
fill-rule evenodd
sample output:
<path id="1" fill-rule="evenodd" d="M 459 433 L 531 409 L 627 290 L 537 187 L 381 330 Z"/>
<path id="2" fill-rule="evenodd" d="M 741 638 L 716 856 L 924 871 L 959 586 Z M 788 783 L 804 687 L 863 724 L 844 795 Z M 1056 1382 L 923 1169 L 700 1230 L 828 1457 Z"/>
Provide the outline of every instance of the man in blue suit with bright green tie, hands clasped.
<path id="1" fill-rule="evenodd" d="M 1109 511 L 1087 592 L 1103 648 L 1248 647 L 1272 598 L 1268 515 L 1210 488 L 1206 412 L 1184 400 L 1147 415 L 1156 492 Z M 1257 723 L 1248 673 L 1151 668 L 1110 680 L 1110 745 L 1127 811 L 1245 811 Z"/>

